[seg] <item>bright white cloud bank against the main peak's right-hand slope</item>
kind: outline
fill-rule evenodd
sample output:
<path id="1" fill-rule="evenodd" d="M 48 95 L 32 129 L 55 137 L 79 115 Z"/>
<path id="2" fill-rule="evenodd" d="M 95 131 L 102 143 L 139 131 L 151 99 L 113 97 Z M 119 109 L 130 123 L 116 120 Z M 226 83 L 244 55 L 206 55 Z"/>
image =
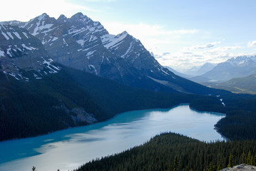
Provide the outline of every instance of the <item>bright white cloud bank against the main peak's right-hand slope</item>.
<path id="1" fill-rule="evenodd" d="M 158 24 L 122 24 L 113 21 L 101 21 L 101 24 L 111 34 L 127 31 L 130 35 L 138 38 L 141 43 L 153 53 L 163 53 L 170 50 L 170 47 L 177 46 L 178 38 L 199 33 L 196 29 L 168 30 L 165 26 Z"/>

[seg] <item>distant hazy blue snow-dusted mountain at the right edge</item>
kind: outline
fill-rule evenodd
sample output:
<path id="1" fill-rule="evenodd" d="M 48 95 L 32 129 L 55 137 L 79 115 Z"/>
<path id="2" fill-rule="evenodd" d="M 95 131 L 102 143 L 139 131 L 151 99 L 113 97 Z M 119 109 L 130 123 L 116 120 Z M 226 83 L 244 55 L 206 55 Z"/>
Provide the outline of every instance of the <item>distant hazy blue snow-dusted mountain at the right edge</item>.
<path id="1" fill-rule="evenodd" d="M 204 81 L 228 81 L 232 78 L 250 76 L 256 73 L 255 56 L 238 56 L 230 58 L 223 63 L 217 64 L 215 68 L 200 77 L 205 78 Z M 191 78 L 196 81 L 195 78 Z"/>

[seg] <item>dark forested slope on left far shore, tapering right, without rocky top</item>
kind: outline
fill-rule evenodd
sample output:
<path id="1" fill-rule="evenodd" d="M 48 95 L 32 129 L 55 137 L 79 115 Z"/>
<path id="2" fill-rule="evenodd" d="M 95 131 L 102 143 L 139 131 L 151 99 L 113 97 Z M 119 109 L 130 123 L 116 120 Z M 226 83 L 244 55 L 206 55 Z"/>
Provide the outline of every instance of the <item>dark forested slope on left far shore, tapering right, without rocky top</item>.
<path id="1" fill-rule="evenodd" d="M 0 73 L 0 140 L 26 138 L 77 125 L 73 108 L 83 108 L 98 121 L 129 110 L 170 108 L 196 95 L 160 93 L 123 86 L 116 81 L 62 66 L 59 73 L 29 82 Z"/>

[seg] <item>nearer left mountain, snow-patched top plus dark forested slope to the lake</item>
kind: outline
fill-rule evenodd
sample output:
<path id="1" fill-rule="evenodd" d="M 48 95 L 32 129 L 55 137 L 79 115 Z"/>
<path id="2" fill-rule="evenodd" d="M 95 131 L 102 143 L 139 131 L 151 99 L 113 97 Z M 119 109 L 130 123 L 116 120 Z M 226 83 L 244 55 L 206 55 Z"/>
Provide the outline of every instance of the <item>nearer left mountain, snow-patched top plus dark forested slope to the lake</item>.
<path id="1" fill-rule="evenodd" d="M 25 28 L 0 25 L 0 140 L 88 125 L 128 110 L 170 108 L 193 97 L 131 88 L 63 66 Z"/>

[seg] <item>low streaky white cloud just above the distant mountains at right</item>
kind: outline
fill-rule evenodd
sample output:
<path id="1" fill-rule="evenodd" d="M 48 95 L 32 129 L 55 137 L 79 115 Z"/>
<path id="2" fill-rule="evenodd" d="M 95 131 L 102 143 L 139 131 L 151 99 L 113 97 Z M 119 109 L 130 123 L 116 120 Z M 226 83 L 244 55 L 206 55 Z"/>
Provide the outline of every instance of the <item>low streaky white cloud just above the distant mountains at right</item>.
<path id="1" fill-rule="evenodd" d="M 217 44 L 213 43 L 213 44 Z M 220 46 L 213 49 L 208 48 L 183 48 L 183 51 L 176 53 L 162 53 L 155 55 L 156 59 L 163 66 L 170 66 L 180 72 L 193 68 L 194 66 L 202 66 L 204 63 L 221 63 L 229 58 L 237 56 L 251 56 L 252 53 L 243 53 L 246 47 L 242 46 Z M 196 50 L 196 51 L 195 51 Z M 246 51 L 247 49 L 245 49 Z"/>

